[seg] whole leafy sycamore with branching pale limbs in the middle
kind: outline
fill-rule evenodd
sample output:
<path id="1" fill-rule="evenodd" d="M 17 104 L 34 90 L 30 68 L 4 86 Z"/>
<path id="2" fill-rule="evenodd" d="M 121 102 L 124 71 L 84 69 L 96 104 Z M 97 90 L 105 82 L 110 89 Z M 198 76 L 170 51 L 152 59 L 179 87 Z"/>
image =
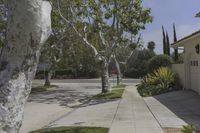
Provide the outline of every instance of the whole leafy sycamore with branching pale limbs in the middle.
<path id="1" fill-rule="evenodd" d="M 136 35 L 152 21 L 150 9 L 144 9 L 141 0 L 57 0 L 57 5 L 63 21 L 73 27 L 101 67 L 102 92 L 110 91 L 108 64 L 113 52 L 125 34 Z M 68 11 L 72 20 L 66 17 Z"/>

